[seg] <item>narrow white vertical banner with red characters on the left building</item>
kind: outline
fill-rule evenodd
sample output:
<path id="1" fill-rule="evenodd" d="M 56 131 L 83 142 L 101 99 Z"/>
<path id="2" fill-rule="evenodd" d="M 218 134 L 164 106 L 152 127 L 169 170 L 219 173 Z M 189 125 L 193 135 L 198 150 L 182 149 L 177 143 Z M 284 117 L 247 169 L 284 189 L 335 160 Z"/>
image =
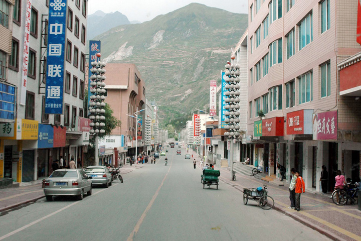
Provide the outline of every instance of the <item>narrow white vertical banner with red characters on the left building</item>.
<path id="1" fill-rule="evenodd" d="M 24 51 L 23 51 L 23 74 L 20 104 L 26 104 L 26 90 L 28 81 L 28 62 L 29 62 L 29 39 L 30 39 L 30 19 L 31 19 L 32 0 L 27 1 L 25 13 L 25 34 L 24 34 Z"/>

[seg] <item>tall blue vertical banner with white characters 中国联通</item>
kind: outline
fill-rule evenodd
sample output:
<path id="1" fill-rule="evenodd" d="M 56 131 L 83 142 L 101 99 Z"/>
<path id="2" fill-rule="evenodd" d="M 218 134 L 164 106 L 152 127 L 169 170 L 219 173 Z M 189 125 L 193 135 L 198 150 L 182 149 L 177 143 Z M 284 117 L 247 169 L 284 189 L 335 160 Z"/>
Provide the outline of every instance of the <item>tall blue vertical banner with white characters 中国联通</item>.
<path id="1" fill-rule="evenodd" d="M 49 1 L 45 113 L 63 113 L 66 0 Z"/>

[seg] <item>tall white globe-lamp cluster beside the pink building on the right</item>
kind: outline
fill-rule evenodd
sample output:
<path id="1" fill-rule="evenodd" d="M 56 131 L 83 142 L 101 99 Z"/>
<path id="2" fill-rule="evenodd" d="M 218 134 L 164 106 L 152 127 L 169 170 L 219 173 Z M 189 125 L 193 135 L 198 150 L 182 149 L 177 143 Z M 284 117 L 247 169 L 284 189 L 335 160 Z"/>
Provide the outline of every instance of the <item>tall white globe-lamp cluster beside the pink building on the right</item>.
<path id="1" fill-rule="evenodd" d="M 226 115 L 226 132 L 225 132 L 225 136 L 228 139 L 236 139 L 240 136 L 240 127 L 238 126 L 238 124 L 240 123 L 240 92 L 239 89 L 241 87 L 241 85 L 239 84 L 240 82 L 240 66 L 238 64 L 234 64 L 234 59 L 236 58 L 235 55 L 232 54 L 231 59 L 232 59 L 232 63 L 227 62 L 225 68 L 225 81 L 226 81 L 226 86 L 225 89 L 227 90 L 225 92 L 226 95 L 226 106 L 225 109 L 227 110 L 225 112 Z"/>

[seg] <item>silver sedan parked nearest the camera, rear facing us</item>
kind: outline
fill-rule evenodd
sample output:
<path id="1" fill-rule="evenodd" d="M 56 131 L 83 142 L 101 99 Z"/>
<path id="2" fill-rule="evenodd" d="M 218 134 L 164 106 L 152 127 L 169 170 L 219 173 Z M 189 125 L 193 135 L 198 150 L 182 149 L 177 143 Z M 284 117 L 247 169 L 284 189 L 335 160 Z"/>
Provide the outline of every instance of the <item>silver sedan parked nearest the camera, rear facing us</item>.
<path id="1" fill-rule="evenodd" d="M 45 180 L 44 194 L 48 201 L 53 196 L 77 196 L 82 200 L 84 193 L 92 193 L 92 177 L 81 169 L 58 169 Z"/>

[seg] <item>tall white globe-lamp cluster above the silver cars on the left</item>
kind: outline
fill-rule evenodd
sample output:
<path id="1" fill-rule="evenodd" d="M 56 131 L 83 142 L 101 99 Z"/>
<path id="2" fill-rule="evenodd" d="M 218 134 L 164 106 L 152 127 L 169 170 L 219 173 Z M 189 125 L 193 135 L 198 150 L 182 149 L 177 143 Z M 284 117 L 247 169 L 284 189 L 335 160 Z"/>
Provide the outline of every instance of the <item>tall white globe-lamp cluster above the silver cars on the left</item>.
<path id="1" fill-rule="evenodd" d="M 100 53 L 97 53 L 97 57 L 100 58 Z M 89 119 L 92 120 L 90 123 L 90 134 L 98 135 L 99 133 L 105 133 L 103 129 L 105 127 L 105 96 L 106 90 L 105 87 L 105 63 L 101 61 L 94 61 L 91 62 L 92 68 L 90 71 L 92 75 L 90 76 L 90 92 L 92 95 L 90 96 L 90 103 L 89 103 Z"/>

